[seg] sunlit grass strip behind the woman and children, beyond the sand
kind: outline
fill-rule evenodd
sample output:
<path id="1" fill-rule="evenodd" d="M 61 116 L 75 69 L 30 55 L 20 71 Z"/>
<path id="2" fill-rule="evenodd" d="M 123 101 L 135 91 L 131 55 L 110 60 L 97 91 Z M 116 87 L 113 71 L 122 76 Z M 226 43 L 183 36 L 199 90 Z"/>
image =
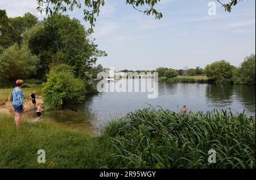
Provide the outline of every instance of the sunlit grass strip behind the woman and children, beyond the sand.
<path id="1" fill-rule="evenodd" d="M 36 91 L 36 95 L 42 95 L 42 87 L 42 85 L 27 84 L 26 87 L 22 88 L 24 98 L 29 98 L 32 91 Z M 12 90 L 13 88 L 0 89 L 0 104 L 3 104 L 5 103 L 5 101 L 8 101 L 9 94 Z"/>

